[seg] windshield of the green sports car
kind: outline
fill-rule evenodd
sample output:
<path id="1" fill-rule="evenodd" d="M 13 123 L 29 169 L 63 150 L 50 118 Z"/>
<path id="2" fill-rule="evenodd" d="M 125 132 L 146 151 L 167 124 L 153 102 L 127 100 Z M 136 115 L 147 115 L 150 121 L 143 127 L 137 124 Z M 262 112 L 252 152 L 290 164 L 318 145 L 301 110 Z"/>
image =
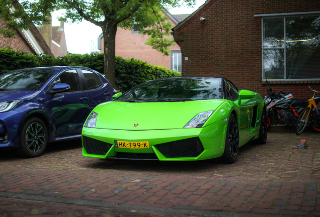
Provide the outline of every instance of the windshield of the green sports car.
<path id="1" fill-rule="evenodd" d="M 221 98 L 221 80 L 212 77 L 177 77 L 144 82 L 117 101 L 188 101 Z"/>

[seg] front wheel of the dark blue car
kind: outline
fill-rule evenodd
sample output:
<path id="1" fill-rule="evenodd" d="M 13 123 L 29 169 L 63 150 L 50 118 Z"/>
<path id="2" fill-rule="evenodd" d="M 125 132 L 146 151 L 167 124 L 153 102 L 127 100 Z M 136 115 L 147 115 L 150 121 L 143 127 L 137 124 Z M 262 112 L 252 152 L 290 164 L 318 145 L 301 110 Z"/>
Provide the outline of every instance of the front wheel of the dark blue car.
<path id="1" fill-rule="evenodd" d="M 47 147 L 47 128 L 41 119 L 33 117 L 28 119 L 20 132 L 17 153 L 22 157 L 38 157 Z"/>

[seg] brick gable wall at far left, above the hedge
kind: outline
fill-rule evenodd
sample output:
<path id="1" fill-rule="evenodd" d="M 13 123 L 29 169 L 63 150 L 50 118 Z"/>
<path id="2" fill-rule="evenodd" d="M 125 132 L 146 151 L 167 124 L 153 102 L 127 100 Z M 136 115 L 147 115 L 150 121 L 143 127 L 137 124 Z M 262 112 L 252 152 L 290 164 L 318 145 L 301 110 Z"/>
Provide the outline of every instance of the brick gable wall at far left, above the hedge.
<path id="1" fill-rule="evenodd" d="M 6 21 L 0 19 L 0 27 L 4 27 L 5 25 Z M 0 48 L 7 48 L 10 46 L 11 49 L 15 51 L 22 50 L 29 54 L 36 54 L 18 31 L 16 31 L 15 37 L 15 39 L 12 39 L 5 38 L 2 35 L 0 35 Z"/>

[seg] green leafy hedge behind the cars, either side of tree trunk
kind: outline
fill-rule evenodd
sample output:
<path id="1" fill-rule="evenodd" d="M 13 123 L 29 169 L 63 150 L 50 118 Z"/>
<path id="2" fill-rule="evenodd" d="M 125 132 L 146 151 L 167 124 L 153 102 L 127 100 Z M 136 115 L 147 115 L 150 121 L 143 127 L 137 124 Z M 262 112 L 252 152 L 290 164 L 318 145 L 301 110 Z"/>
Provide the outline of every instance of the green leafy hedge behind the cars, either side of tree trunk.
<path id="1" fill-rule="evenodd" d="M 0 74 L 21 69 L 44 66 L 84 66 L 103 73 L 103 54 L 70 54 L 54 58 L 50 55 L 33 55 L 13 51 L 10 47 L 0 49 Z M 136 59 L 116 56 L 116 89 L 122 92 L 147 80 L 180 76 L 167 68 L 150 65 Z"/>

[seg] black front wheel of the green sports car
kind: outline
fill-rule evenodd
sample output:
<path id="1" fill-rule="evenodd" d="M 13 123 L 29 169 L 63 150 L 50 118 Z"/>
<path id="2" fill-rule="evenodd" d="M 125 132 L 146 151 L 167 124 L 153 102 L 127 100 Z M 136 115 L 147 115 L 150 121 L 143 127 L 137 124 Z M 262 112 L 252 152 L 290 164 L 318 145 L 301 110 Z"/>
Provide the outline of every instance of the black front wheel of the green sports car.
<path id="1" fill-rule="evenodd" d="M 221 163 L 234 163 L 239 152 L 239 128 L 236 118 L 231 114 L 226 131 L 224 153 L 219 158 Z"/>

